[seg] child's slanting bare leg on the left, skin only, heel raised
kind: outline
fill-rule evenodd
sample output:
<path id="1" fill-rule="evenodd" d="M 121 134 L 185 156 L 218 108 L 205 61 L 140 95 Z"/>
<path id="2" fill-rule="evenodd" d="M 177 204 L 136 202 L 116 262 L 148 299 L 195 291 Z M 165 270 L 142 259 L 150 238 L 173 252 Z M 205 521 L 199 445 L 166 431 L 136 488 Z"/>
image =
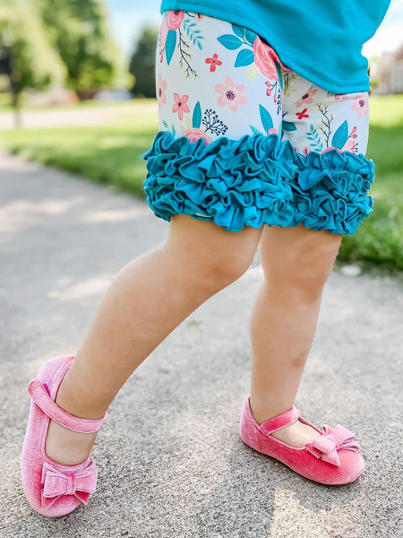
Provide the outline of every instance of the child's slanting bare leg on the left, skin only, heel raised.
<path id="1" fill-rule="evenodd" d="M 79 417 L 101 417 L 124 381 L 167 334 L 246 271 L 261 234 L 251 228 L 228 232 L 176 215 L 167 244 L 126 265 L 112 282 L 56 403 Z M 62 464 L 80 463 L 95 437 L 51 421 L 47 456 Z"/>

